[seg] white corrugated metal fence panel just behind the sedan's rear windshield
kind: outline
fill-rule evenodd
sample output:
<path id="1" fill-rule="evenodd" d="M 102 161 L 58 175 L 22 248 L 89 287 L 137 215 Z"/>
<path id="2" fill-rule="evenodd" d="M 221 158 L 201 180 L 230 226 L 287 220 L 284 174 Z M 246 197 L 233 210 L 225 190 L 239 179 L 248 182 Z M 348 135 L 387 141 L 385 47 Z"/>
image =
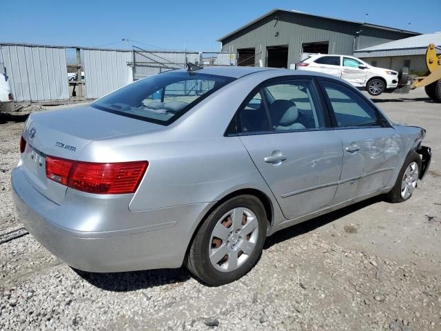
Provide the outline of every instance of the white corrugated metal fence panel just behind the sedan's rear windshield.
<path id="1" fill-rule="evenodd" d="M 132 83 L 132 52 L 116 50 L 83 50 L 85 94 L 88 99 Z"/>

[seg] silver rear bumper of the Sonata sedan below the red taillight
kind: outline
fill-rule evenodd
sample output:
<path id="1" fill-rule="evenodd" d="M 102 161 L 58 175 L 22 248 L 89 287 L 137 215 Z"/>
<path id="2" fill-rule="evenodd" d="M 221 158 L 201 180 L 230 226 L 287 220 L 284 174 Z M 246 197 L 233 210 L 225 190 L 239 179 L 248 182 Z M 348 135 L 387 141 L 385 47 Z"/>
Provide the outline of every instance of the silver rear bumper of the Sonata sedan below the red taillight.
<path id="1" fill-rule="evenodd" d="M 124 211 L 105 215 L 118 217 L 121 229 L 106 231 L 101 223 L 100 231 L 84 231 L 67 228 L 66 224 L 83 224 L 97 218 L 96 214 L 84 214 L 57 205 L 32 187 L 20 167 L 12 171 L 12 194 L 21 222 L 32 236 L 52 254 L 74 268 L 89 272 L 121 272 L 156 268 L 178 268 L 182 265 L 187 245 L 198 222 L 211 203 L 196 203 L 171 208 Z M 107 203 L 112 205 L 112 203 Z M 112 208 L 111 206 L 109 208 Z M 83 208 L 88 209 L 88 208 Z M 95 212 L 101 212 L 97 208 Z M 61 215 L 63 217 L 55 217 Z M 127 228 L 142 220 L 145 226 Z M 84 225 L 83 225 L 84 226 Z M 104 226 L 104 228 L 103 228 Z"/>

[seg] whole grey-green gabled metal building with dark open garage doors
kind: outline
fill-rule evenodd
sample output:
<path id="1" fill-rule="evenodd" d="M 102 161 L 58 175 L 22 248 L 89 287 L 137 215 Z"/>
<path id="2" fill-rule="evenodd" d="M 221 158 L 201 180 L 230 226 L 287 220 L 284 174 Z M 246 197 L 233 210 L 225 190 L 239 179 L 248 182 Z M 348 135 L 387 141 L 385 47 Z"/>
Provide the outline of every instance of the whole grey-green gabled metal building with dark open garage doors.
<path id="1" fill-rule="evenodd" d="M 354 50 L 413 37 L 418 32 L 274 9 L 218 39 L 238 66 L 292 68 L 304 53 L 353 54 Z"/>

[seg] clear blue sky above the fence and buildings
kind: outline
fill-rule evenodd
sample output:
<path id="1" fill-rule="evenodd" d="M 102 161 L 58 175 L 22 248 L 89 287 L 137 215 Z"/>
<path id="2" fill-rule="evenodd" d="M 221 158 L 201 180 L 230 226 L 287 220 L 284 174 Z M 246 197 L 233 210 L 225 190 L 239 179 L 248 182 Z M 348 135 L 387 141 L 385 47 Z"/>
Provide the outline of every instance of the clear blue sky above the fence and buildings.
<path id="1" fill-rule="evenodd" d="M 218 51 L 216 39 L 274 8 L 422 33 L 441 31 L 440 0 L 0 0 L 0 43 Z M 368 14 L 368 15 L 366 15 Z M 410 25 L 409 25 L 410 23 Z M 129 39 L 129 41 L 122 41 Z"/>

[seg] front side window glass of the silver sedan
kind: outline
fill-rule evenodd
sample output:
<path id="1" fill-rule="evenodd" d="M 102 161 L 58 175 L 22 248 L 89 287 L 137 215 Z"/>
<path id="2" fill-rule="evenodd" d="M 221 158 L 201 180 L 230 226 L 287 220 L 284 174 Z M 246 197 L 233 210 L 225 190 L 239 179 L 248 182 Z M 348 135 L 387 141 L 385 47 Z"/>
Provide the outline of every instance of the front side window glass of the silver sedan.
<path id="1" fill-rule="evenodd" d="M 339 128 L 378 126 L 376 110 L 356 92 L 340 84 L 322 81 Z"/>

